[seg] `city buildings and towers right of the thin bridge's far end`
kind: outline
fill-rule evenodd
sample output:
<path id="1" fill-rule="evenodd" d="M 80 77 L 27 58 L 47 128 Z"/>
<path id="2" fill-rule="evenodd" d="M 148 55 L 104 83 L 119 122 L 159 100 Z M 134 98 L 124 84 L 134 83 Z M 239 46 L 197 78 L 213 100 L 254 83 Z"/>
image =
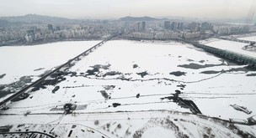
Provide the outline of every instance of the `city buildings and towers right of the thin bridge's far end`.
<path id="1" fill-rule="evenodd" d="M 208 22 L 196 23 L 178 21 L 141 22 L 135 24 L 136 29 L 131 31 L 130 37 L 141 39 L 191 39 L 200 37 L 205 38 L 212 35 L 251 33 L 256 31 L 255 25 L 248 24 L 225 23 L 220 25 L 217 23 Z"/>

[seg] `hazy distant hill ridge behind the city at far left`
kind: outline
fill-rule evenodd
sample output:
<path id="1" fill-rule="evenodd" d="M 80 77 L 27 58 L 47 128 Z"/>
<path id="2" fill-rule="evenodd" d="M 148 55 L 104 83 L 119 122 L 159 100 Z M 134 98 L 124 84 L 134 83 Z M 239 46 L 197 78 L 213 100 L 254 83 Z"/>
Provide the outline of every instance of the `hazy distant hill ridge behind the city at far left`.
<path id="1" fill-rule="evenodd" d="M 0 19 L 8 21 L 9 23 L 67 23 L 75 21 L 68 18 L 50 17 L 37 14 L 27 14 L 24 16 L 15 17 L 2 17 Z"/>

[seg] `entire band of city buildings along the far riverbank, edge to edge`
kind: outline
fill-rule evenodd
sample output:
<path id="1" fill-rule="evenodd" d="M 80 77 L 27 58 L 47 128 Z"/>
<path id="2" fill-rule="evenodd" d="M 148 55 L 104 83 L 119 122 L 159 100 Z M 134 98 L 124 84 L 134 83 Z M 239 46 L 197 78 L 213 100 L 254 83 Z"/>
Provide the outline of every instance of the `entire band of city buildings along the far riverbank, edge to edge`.
<path id="1" fill-rule="evenodd" d="M 0 45 L 8 43 L 36 43 L 58 40 L 102 39 L 122 33 L 120 38 L 175 39 L 205 38 L 212 35 L 251 33 L 255 25 L 180 20 L 152 21 L 88 21 L 86 23 L 27 24 L 0 28 Z"/>

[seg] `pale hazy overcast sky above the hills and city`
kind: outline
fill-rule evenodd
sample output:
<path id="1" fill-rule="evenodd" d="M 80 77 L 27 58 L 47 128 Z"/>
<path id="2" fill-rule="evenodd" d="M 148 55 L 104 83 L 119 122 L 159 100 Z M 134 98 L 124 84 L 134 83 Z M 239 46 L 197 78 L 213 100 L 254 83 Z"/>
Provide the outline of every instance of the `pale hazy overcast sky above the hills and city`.
<path id="1" fill-rule="evenodd" d="M 241 18 L 256 9 L 256 0 L 0 0 L 0 16 L 28 13 L 65 18 L 184 16 Z"/>

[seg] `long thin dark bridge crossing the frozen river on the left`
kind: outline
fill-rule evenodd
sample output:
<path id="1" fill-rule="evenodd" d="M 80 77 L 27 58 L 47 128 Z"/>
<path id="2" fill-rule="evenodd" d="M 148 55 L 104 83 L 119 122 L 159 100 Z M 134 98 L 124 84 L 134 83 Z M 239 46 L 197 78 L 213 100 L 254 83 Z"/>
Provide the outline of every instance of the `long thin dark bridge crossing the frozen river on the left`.
<path id="1" fill-rule="evenodd" d="M 112 38 L 112 37 L 111 37 Z M 70 66 L 72 66 L 72 62 L 79 60 L 80 58 L 82 58 L 83 56 L 86 56 L 90 53 L 93 52 L 93 50 L 98 49 L 100 46 L 102 46 L 106 41 L 110 40 L 111 38 L 106 38 L 105 40 L 97 43 L 96 45 L 94 45 L 93 47 L 91 47 L 90 49 L 84 51 L 82 54 L 77 55 L 75 58 L 70 59 L 67 61 L 67 63 L 65 64 L 61 64 L 60 66 L 58 66 L 56 69 L 52 70 L 50 73 L 45 74 L 45 76 L 41 77 L 40 79 L 36 80 L 34 83 L 29 84 L 28 86 L 24 87 L 23 89 L 20 89 L 18 92 L 16 92 L 15 94 L 11 95 L 10 97 L 8 97 L 7 99 L 3 100 L 0 102 L 0 109 L 5 107 L 8 102 L 10 102 L 11 100 L 17 98 L 17 97 L 24 97 L 24 93 L 26 91 L 29 91 L 29 89 L 31 89 L 33 86 L 35 86 L 36 84 L 40 84 L 43 83 L 44 80 L 46 78 L 48 78 L 49 76 L 51 76 L 51 74 L 55 74 L 57 72 L 59 72 L 61 69 L 65 69 L 68 68 Z"/>

